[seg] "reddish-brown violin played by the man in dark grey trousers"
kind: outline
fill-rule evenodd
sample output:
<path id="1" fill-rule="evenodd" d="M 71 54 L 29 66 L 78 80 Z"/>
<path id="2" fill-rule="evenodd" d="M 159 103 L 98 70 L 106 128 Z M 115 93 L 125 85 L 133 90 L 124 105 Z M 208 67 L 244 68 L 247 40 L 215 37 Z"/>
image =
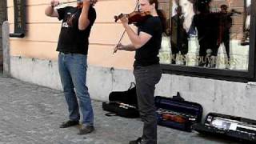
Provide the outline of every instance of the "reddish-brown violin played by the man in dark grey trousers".
<path id="1" fill-rule="evenodd" d="M 126 16 L 128 18 L 128 24 L 138 23 L 138 22 L 145 22 L 146 18 L 150 15 L 150 12 L 140 12 L 140 11 L 133 11 L 130 14 L 119 14 L 118 16 L 114 16 L 114 22 L 118 22 L 118 19 Z"/>

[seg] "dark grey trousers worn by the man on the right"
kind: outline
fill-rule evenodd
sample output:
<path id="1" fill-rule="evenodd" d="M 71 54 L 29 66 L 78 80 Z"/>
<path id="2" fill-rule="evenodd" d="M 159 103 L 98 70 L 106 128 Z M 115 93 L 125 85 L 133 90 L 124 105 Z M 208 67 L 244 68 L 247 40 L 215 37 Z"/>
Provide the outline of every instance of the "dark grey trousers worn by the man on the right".
<path id="1" fill-rule="evenodd" d="M 136 66 L 134 77 L 138 96 L 138 110 L 144 122 L 142 144 L 157 144 L 157 118 L 154 106 L 155 85 L 160 81 L 160 65 Z"/>

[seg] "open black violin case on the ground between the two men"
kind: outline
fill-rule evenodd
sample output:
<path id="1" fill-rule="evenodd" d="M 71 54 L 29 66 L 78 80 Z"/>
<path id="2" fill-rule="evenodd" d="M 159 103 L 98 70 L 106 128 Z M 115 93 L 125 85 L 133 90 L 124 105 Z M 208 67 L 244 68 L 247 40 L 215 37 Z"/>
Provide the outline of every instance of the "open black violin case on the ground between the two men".
<path id="1" fill-rule="evenodd" d="M 118 115 L 125 118 L 138 118 L 138 102 L 136 86 L 131 82 L 126 91 L 112 91 L 109 94 L 109 102 L 102 102 L 102 109 L 108 111 L 106 116 Z"/>

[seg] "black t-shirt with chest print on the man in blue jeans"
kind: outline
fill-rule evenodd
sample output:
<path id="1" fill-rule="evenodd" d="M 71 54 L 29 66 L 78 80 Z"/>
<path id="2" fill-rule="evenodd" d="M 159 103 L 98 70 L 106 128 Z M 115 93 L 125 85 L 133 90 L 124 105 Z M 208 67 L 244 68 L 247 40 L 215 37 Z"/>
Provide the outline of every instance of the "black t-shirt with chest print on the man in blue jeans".
<path id="1" fill-rule="evenodd" d="M 62 29 L 58 38 L 57 51 L 77 54 L 87 54 L 89 45 L 90 29 L 96 19 L 96 11 L 90 6 L 88 19 L 89 26 L 86 30 L 78 29 L 78 19 L 82 9 L 66 6 L 58 9 L 58 19 L 62 20 Z"/>

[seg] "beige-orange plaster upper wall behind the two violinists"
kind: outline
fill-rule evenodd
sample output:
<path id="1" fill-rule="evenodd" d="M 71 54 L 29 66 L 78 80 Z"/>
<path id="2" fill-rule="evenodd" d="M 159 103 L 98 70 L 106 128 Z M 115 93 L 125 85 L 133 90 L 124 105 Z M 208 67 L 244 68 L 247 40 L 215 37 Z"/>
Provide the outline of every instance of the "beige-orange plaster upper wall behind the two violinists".
<path id="1" fill-rule="evenodd" d="M 62 0 L 60 2 L 72 2 Z M 122 35 L 123 27 L 114 22 L 114 15 L 130 13 L 134 10 L 134 1 L 127 0 L 98 0 L 95 6 L 97 19 L 90 34 L 90 49 L 88 62 L 90 65 L 115 67 L 130 70 L 134 62 L 134 53 L 118 51 L 112 54 L 113 48 Z M 44 14 L 50 0 L 27 0 L 26 37 L 10 38 L 11 56 L 57 60 L 55 51 L 61 22 L 57 18 L 48 18 Z M 75 6 L 74 3 L 67 4 Z M 67 6 L 64 5 L 64 6 Z M 14 3 L 7 1 L 10 33 L 14 31 Z M 127 35 L 122 43 L 129 43 Z"/>

